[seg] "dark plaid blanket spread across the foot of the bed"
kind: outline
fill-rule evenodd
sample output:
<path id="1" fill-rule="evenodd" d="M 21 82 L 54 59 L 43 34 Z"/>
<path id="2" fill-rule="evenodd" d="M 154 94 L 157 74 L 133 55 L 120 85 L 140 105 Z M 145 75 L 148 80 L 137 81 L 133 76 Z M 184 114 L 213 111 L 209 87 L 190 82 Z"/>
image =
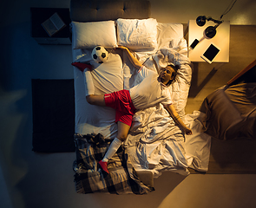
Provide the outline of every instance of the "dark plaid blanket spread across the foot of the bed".
<path id="1" fill-rule="evenodd" d="M 78 193 L 109 192 L 115 194 L 144 194 L 154 191 L 154 187 L 145 185 L 139 179 L 128 154 L 121 146 L 114 157 L 108 161 L 109 174 L 98 167 L 110 145 L 102 134 L 75 134 L 76 159 L 75 188 Z"/>

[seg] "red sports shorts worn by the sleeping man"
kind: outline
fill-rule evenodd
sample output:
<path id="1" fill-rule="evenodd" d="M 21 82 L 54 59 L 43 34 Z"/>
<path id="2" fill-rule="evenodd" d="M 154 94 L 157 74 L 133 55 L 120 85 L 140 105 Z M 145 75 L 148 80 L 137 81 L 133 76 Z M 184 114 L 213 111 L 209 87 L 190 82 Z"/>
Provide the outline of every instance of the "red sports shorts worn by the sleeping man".
<path id="1" fill-rule="evenodd" d="M 115 109 L 115 122 L 121 121 L 131 127 L 135 107 L 128 90 L 123 89 L 111 94 L 104 95 L 107 107 Z"/>

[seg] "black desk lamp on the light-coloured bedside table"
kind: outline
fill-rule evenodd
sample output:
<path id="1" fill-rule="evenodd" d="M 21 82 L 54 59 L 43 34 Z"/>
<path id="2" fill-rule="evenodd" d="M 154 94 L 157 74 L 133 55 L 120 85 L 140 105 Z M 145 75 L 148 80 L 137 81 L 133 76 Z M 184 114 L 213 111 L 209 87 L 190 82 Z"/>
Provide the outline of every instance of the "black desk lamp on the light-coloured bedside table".
<path id="1" fill-rule="evenodd" d="M 207 21 L 213 21 L 213 23 L 216 23 L 216 25 L 213 27 L 213 26 L 209 26 L 207 27 L 207 29 L 205 29 L 205 35 L 208 37 L 208 38 L 213 38 L 213 36 L 216 35 L 216 28 L 221 24 L 223 23 L 224 21 L 223 20 L 215 20 L 213 19 L 211 16 L 198 16 L 196 18 L 196 23 L 198 26 L 204 26 Z"/>

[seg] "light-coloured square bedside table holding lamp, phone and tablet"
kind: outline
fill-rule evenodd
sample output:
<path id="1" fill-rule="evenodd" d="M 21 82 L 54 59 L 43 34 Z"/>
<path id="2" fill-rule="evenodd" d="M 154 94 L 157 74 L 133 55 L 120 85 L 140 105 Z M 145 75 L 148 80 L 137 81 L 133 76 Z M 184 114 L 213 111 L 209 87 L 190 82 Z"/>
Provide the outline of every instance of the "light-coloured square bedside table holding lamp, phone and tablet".
<path id="1" fill-rule="evenodd" d="M 188 47 L 198 39 L 200 42 L 194 49 L 188 49 L 188 58 L 191 62 L 205 62 L 200 55 L 202 55 L 207 48 L 213 43 L 220 49 L 220 52 L 215 56 L 213 62 L 229 62 L 229 39 L 230 39 L 230 23 L 229 21 L 223 22 L 217 28 L 217 33 L 213 38 L 204 36 L 204 30 L 208 26 L 214 26 L 215 23 L 207 21 L 207 23 L 200 27 L 196 24 L 195 20 L 188 22 Z"/>

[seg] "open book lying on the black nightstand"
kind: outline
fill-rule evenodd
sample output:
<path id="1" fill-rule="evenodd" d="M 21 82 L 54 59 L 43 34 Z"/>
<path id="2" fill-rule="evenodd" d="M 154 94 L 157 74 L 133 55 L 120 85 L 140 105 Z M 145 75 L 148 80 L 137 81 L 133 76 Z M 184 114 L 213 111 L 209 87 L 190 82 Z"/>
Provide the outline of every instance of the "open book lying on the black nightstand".
<path id="1" fill-rule="evenodd" d="M 59 30 L 66 27 L 66 24 L 62 21 L 61 16 L 59 16 L 57 13 L 54 13 L 52 16 L 49 17 L 49 19 L 45 20 L 42 23 L 42 26 L 49 36 L 53 36 Z"/>

